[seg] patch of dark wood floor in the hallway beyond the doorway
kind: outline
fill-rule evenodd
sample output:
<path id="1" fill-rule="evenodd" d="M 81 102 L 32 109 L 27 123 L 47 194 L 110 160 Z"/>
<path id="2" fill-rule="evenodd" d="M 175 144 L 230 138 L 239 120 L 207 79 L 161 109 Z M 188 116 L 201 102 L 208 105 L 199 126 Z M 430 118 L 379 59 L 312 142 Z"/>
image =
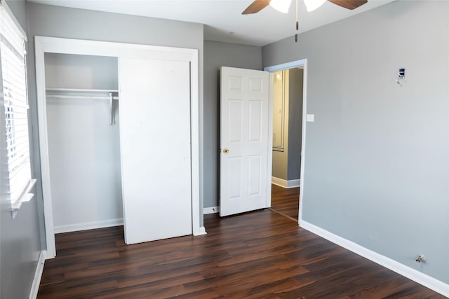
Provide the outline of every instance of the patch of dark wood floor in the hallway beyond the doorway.
<path id="1" fill-rule="evenodd" d="M 300 188 L 282 188 L 272 184 L 272 209 L 297 221 Z"/>

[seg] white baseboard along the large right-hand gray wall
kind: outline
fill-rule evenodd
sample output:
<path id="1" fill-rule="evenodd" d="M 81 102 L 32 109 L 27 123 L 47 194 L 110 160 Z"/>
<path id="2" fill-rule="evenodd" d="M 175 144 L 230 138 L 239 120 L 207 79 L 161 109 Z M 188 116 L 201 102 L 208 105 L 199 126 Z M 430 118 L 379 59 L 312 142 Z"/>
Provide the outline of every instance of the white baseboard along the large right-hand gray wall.
<path id="1" fill-rule="evenodd" d="M 345 249 L 348 249 L 349 251 L 357 253 L 359 256 L 368 258 L 368 260 L 372 260 L 373 262 L 382 265 L 383 267 L 386 267 L 389 270 L 401 274 L 402 276 L 407 277 L 408 279 L 412 279 L 418 284 L 422 284 L 423 286 L 426 286 L 427 288 L 430 288 L 438 293 L 441 293 L 441 295 L 445 295 L 446 297 L 449 298 L 449 284 L 445 284 L 443 281 L 439 281 L 434 277 L 430 277 L 427 274 L 424 274 L 411 267 L 398 263 L 396 262 L 396 260 L 387 258 L 387 256 L 382 256 L 381 254 L 375 251 L 372 251 L 361 245 L 351 242 L 348 239 L 344 239 L 343 237 L 337 236 L 332 232 L 324 230 L 323 228 L 319 228 L 318 226 L 308 223 L 307 221 L 301 220 L 300 226 L 306 230 L 309 230 L 310 232 L 313 232 L 316 235 L 319 235 L 320 237 L 323 237 L 324 239 L 327 239 L 330 242 L 340 245 Z"/>

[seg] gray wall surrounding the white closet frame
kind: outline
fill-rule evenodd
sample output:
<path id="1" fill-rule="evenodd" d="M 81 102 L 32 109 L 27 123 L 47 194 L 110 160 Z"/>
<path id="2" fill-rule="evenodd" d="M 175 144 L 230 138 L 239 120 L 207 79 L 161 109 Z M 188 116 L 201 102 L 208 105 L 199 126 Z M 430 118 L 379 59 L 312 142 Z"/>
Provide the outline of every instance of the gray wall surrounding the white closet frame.
<path id="1" fill-rule="evenodd" d="M 42 4 L 28 4 L 29 23 L 29 71 L 33 125 L 37 128 L 36 86 L 34 73 L 34 36 L 54 36 L 68 39 L 90 39 L 140 43 L 157 46 L 194 48 L 199 50 L 200 95 L 200 155 L 203 155 L 203 25 L 173 20 L 136 17 L 117 13 L 101 13 L 74 8 L 62 8 Z M 35 146 L 38 148 L 37 133 Z M 200 158 L 202 162 L 202 159 Z M 40 167 L 36 151 L 36 167 Z M 202 167 L 202 165 L 200 165 Z M 200 176 L 202 172 L 200 171 Z M 40 178 L 39 178 L 40 179 Z M 200 178 L 201 183 L 201 178 Z M 200 186 L 200 213 L 202 215 L 203 186 Z M 41 190 L 38 193 L 42 204 Z M 201 217 L 201 225 L 202 224 Z"/>

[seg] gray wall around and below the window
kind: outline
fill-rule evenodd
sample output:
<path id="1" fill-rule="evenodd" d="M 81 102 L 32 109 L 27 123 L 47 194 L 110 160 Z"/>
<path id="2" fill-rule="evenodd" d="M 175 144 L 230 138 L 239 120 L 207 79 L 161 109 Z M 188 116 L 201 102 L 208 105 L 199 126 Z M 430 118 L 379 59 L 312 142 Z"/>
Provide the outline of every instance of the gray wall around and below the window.
<path id="1" fill-rule="evenodd" d="M 8 1 L 8 6 L 27 29 L 26 5 L 23 1 Z M 1 113 L 4 117 L 3 106 Z M 1 134 L 4 137 L 4 132 Z M 2 138 L 1 144 L 5 144 Z M 1 168 L 4 168 L 4 148 L 1 148 Z M 28 298 L 41 251 L 37 199 L 22 205 L 17 216 L 11 218 L 11 203 L 1 186 L 0 195 L 0 298 Z"/>

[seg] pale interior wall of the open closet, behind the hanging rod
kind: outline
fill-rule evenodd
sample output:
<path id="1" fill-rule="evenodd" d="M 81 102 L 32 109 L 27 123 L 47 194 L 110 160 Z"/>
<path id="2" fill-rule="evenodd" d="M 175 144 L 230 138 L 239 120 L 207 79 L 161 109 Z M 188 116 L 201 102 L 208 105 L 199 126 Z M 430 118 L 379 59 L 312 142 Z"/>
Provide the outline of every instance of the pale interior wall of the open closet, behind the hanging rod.
<path id="1" fill-rule="evenodd" d="M 118 90 L 117 74 L 116 57 L 45 54 L 56 233 L 123 223 L 119 104 L 111 125 L 109 92 L 100 91 Z"/>

